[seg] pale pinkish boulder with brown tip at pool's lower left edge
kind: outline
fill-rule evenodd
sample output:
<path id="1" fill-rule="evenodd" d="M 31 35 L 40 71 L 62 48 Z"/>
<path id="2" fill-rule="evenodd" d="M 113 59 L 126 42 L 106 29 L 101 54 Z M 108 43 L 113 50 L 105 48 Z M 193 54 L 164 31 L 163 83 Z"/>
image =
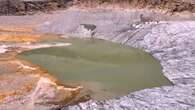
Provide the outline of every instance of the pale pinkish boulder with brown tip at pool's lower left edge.
<path id="1" fill-rule="evenodd" d="M 81 87 L 66 88 L 48 78 L 40 78 L 31 94 L 32 104 L 68 104 L 80 93 Z"/>

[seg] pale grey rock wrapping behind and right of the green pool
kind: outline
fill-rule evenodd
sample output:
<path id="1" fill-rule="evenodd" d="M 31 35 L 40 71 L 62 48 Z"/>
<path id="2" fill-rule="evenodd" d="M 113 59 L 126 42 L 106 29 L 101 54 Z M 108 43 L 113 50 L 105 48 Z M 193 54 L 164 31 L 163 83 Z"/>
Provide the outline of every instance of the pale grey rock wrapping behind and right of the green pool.
<path id="1" fill-rule="evenodd" d="M 104 14 L 103 14 L 104 13 Z M 110 12 L 109 12 L 110 13 Z M 65 11 L 54 14 L 35 27 L 37 32 L 52 32 L 77 37 L 90 36 L 80 24 L 97 27 L 94 37 L 133 46 L 149 52 L 162 65 L 173 86 L 144 89 L 127 96 L 105 101 L 90 100 L 68 107 L 45 106 L 60 110 L 194 110 L 195 109 L 195 22 L 163 21 L 138 23 L 138 16 L 126 12 Z M 103 17 L 102 17 L 103 16 Z M 128 16 L 128 17 L 127 17 Z M 134 18 L 132 18 L 134 16 Z M 33 16 L 32 16 L 33 18 Z M 131 18 L 131 22 L 129 22 Z M 0 18 L 1 19 L 1 18 Z M 66 20 L 64 20 L 66 19 Z M 87 19 L 87 21 L 86 21 Z M 120 20 L 119 20 L 120 19 Z M 30 21 L 29 21 L 30 22 Z M 88 32 L 89 31 L 89 32 Z M 66 36 L 66 35 L 63 35 Z M 0 105 L 0 107 L 9 106 Z M 21 105 L 20 105 L 21 106 Z M 44 105 L 42 105 L 44 106 Z M 38 107 L 37 107 L 38 108 Z"/>

